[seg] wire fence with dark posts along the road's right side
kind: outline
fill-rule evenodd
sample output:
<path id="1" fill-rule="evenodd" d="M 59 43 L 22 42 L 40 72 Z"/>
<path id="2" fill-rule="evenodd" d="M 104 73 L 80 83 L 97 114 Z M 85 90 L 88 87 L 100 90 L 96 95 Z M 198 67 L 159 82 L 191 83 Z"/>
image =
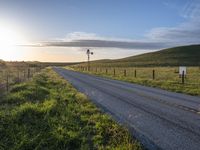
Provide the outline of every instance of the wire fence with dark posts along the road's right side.
<path id="1" fill-rule="evenodd" d="M 73 68 L 81 72 L 130 80 L 167 81 L 200 87 L 200 67 L 187 67 L 187 72 L 185 72 L 184 76 L 179 74 L 179 67 L 90 67 L 90 70 L 85 66 L 74 66 Z"/>

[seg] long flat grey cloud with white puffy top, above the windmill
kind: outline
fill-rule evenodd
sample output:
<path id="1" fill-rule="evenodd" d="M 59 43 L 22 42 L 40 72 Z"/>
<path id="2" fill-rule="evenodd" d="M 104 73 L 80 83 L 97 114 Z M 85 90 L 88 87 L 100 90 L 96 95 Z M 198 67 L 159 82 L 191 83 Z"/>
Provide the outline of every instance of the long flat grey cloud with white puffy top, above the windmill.
<path id="1" fill-rule="evenodd" d="M 65 38 L 56 39 L 36 44 L 23 45 L 31 47 L 86 47 L 86 48 L 119 48 L 137 50 L 157 50 L 167 47 L 163 42 L 136 41 L 131 39 L 119 39 L 112 37 L 101 37 L 94 33 L 73 32 Z"/>

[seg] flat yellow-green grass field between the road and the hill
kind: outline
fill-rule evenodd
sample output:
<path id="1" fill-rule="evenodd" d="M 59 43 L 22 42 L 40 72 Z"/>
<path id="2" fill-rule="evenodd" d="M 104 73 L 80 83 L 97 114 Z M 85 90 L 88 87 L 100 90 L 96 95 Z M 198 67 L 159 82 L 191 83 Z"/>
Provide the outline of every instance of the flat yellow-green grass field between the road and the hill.
<path id="1" fill-rule="evenodd" d="M 200 96 L 199 67 L 187 67 L 184 84 L 179 77 L 178 67 L 91 67 L 90 71 L 87 71 L 85 66 L 73 66 L 71 68 L 116 80 Z M 155 71 L 154 79 L 153 70 Z"/>

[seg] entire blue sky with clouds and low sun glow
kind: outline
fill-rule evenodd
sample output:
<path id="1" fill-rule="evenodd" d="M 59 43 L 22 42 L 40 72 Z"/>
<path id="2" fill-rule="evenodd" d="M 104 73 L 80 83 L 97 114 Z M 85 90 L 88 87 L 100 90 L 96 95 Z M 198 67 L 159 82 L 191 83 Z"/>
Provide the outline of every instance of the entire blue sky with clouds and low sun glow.
<path id="1" fill-rule="evenodd" d="M 117 59 L 200 44 L 200 0 L 0 0 L 0 59 Z"/>

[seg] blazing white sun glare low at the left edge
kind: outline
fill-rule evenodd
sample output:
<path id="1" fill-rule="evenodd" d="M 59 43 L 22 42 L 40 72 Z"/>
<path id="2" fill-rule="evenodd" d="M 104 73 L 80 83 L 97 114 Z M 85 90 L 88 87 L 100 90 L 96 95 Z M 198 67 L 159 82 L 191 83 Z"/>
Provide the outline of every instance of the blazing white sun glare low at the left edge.
<path id="1" fill-rule="evenodd" d="M 23 57 L 20 45 L 26 42 L 20 30 L 9 24 L 0 23 L 0 59 L 18 60 Z"/>

